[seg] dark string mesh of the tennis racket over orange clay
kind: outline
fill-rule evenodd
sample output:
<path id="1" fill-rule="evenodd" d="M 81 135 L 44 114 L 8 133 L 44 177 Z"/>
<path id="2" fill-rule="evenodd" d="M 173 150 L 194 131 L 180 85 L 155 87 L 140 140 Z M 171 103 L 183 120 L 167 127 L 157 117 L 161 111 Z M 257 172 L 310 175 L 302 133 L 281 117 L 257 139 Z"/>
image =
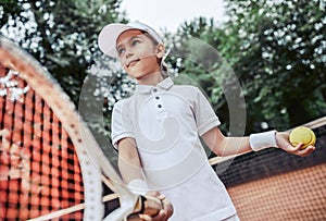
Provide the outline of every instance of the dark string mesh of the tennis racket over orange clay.
<path id="1" fill-rule="evenodd" d="M 74 146 L 27 83 L 0 66 L 0 220 L 26 220 L 84 201 Z M 61 220 L 82 220 L 83 211 Z"/>

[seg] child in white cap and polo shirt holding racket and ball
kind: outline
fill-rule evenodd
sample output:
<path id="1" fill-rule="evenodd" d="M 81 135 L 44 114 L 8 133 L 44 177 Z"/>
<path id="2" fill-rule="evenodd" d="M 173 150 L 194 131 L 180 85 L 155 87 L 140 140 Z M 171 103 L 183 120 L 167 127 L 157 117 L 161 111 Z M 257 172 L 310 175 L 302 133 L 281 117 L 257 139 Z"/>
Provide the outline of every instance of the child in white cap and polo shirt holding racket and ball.
<path id="1" fill-rule="evenodd" d="M 315 148 L 292 147 L 288 134 L 276 131 L 225 137 L 202 93 L 193 86 L 174 85 L 168 77 L 165 46 L 145 24 L 110 24 L 101 30 L 99 46 L 105 54 L 118 58 L 137 79 L 135 95 L 113 109 L 112 142 L 118 149 L 121 174 L 135 193 L 159 191 L 166 196 L 174 207 L 170 220 L 239 220 L 199 136 L 217 156 L 279 147 L 303 157 Z M 158 217 L 142 219 L 166 220 L 167 208 Z"/>

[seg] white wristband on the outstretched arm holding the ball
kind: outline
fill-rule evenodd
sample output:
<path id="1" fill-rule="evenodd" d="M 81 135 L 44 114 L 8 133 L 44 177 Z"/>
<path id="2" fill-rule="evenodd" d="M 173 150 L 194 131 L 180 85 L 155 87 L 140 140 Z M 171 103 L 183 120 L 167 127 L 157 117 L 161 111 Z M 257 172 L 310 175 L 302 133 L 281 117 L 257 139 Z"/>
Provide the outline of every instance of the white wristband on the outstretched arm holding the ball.
<path id="1" fill-rule="evenodd" d="M 251 134 L 249 136 L 250 147 L 253 151 L 259 151 L 268 147 L 278 147 L 276 143 L 276 131 Z"/>

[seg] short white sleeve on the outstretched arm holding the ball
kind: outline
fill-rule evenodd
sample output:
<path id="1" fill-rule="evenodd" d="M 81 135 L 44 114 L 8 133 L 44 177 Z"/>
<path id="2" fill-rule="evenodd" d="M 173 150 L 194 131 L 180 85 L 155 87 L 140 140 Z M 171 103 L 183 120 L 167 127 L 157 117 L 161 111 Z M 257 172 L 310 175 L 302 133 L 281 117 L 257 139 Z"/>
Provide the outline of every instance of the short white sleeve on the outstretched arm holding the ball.
<path id="1" fill-rule="evenodd" d="M 198 88 L 196 88 L 195 118 L 200 136 L 221 124 L 208 98 Z"/>

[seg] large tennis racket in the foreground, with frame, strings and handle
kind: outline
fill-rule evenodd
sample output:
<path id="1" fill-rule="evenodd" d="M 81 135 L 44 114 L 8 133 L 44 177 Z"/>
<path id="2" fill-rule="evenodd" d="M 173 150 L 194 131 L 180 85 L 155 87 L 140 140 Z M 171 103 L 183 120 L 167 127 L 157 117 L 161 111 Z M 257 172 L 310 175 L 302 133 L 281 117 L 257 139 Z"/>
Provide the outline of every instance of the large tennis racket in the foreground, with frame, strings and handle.
<path id="1" fill-rule="evenodd" d="M 162 209 L 123 185 L 60 85 L 3 36 L 0 142 L 0 220 L 137 220 Z M 103 201 L 117 197 L 104 214 Z"/>

